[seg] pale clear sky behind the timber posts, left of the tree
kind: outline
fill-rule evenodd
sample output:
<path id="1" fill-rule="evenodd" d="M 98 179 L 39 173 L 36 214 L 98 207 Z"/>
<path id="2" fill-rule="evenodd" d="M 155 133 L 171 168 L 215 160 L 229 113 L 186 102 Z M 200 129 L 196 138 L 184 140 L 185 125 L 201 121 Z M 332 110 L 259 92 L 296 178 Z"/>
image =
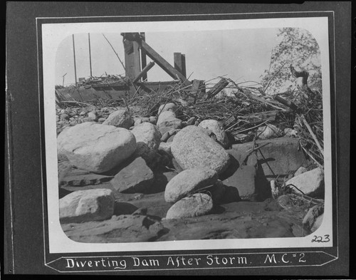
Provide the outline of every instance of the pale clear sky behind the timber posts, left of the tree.
<path id="1" fill-rule="evenodd" d="M 268 69 L 271 51 L 279 43 L 277 28 L 234 29 L 221 31 L 147 32 L 146 42 L 173 66 L 173 53 L 183 53 L 187 76 L 209 81 L 219 76 L 235 82 L 260 81 Z M 118 56 L 125 61 L 121 32 L 104 33 Z M 75 39 L 77 78 L 90 76 L 88 33 L 78 33 Z M 115 74 L 125 76 L 125 70 L 101 33 L 90 33 L 93 76 Z M 147 63 L 151 60 L 147 57 Z M 56 53 L 56 85 L 75 83 L 73 38 L 66 37 Z M 172 81 L 157 64 L 147 73 L 148 81 Z"/>

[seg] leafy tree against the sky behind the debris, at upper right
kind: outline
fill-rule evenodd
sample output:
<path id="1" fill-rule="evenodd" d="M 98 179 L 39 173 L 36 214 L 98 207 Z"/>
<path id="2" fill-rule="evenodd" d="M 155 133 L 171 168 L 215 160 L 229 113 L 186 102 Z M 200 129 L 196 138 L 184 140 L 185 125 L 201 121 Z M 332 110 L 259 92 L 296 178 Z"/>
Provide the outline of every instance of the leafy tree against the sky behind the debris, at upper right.
<path id="1" fill-rule="evenodd" d="M 320 48 L 313 35 L 302 28 L 281 28 L 277 36 L 281 41 L 273 48 L 270 67 L 262 76 L 263 91 L 273 95 L 293 87 L 293 65 L 307 71 L 308 86 L 321 92 Z"/>

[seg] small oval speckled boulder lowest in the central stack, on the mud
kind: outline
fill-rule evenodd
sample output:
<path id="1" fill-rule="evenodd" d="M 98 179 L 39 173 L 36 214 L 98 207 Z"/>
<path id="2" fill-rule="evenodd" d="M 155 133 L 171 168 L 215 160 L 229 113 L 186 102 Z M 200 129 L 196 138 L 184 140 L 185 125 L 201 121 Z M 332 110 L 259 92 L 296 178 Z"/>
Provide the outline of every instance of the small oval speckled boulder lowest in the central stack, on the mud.
<path id="1" fill-rule="evenodd" d="M 213 209 L 213 200 L 209 195 L 197 193 L 184 197 L 168 209 L 166 219 L 181 219 L 198 217 L 207 214 Z"/>

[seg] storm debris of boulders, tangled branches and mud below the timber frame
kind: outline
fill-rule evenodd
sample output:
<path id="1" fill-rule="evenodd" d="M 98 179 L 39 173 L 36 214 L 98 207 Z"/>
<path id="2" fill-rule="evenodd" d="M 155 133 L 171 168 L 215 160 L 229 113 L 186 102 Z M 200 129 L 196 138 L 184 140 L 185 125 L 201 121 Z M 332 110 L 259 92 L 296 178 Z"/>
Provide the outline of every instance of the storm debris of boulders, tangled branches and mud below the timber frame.
<path id="1" fill-rule="evenodd" d="M 303 237 L 318 228 L 320 92 L 272 96 L 229 78 L 205 88 L 177 83 L 117 106 L 57 108 L 60 213 L 68 237 Z"/>

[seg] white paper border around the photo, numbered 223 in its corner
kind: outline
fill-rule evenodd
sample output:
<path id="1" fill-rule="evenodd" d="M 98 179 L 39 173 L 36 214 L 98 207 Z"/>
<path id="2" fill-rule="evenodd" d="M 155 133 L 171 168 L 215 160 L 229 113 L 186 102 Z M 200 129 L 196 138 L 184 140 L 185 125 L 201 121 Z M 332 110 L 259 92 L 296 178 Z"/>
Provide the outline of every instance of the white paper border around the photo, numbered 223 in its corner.
<path id="1" fill-rule="evenodd" d="M 295 12 L 293 14 L 296 14 Z M 310 11 L 308 11 L 310 13 Z M 318 11 L 318 13 L 320 13 Z M 329 12 L 330 13 L 330 12 Z M 263 13 L 267 14 L 267 13 Z M 278 13 L 268 13 L 278 14 Z M 283 12 L 283 14 L 286 14 Z M 239 14 L 236 14 L 238 16 Z M 175 15 L 176 16 L 176 15 Z M 187 15 L 184 15 L 187 16 Z M 204 15 L 197 15 L 204 16 Z M 209 15 L 205 15 L 209 16 Z M 157 16 L 157 18 L 163 16 Z M 166 16 L 167 17 L 167 16 Z M 102 18 L 102 17 L 100 17 Z M 103 17 L 105 18 L 105 17 Z M 112 18 L 112 17 L 110 17 Z M 38 18 L 43 19 L 43 18 Z M 50 19 L 50 18 L 48 18 Z M 54 18 L 53 18 L 54 19 Z M 261 238 L 261 239 L 209 239 L 209 240 L 179 240 L 174 242 L 127 242 L 127 243 L 81 243 L 69 239 L 61 228 L 59 222 L 58 206 L 58 166 L 56 145 L 56 102 L 53 88 L 55 86 L 56 51 L 63 38 L 73 33 L 120 33 L 125 32 L 158 32 L 158 31 L 199 31 L 199 30 L 225 30 L 229 28 L 304 28 L 313 34 L 320 46 L 321 66 L 323 74 L 323 118 L 324 118 L 324 162 L 325 162 L 325 210 L 324 220 L 320 228 L 314 233 L 323 236 L 328 234 L 333 241 L 333 169 L 332 169 L 332 118 L 331 118 L 331 92 L 330 55 L 328 16 L 315 17 L 284 17 L 268 19 L 228 19 L 228 20 L 184 20 L 184 21 L 121 21 L 121 22 L 79 22 L 66 23 L 68 18 L 61 19 L 61 23 L 48 23 L 41 25 L 41 48 L 43 69 L 43 118 L 45 131 L 46 152 L 46 199 L 48 217 L 43 216 L 43 227 L 48 227 L 48 250 L 50 254 L 60 253 L 94 253 L 94 252 L 152 252 L 152 251 L 184 251 L 202 249 L 268 249 L 268 248 L 313 248 L 333 247 L 333 242 L 320 244 L 311 242 L 312 235 L 307 237 Z M 70 18 L 73 19 L 73 18 Z M 95 21 L 95 18 L 93 18 Z M 39 39 L 39 38 L 38 38 Z M 334 47 L 335 49 L 335 47 Z M 334 56 L 335 59 L 335 56 Z M 335 65 L 335 61 L 333 61 Z M 41 88 L 42 85 L 39 85 Z M 336 88 L 336 85 L 335 85 Z M 335 92 L 336 96 L 336 92 Z M 337 190 L 336 190 L 337 192 Z M 334 197 L 337 201 L 337 197 Z M 47 220 L 46 220 L 47 219 Z M 46 242 L 45 242 L 46 243 Z M 46 244 L 45 244 L 46 252 Z"/>

